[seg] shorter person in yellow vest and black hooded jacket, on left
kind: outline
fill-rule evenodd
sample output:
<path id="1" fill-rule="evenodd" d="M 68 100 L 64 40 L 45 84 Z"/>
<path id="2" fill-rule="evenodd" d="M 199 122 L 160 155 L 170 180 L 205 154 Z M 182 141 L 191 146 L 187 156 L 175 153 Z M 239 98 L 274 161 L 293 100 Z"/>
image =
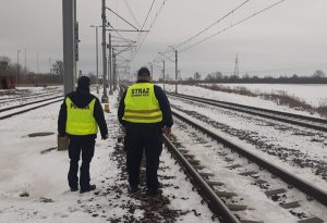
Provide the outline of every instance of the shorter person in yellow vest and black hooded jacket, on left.
<path id="1" fill-rule="evenodd" d="M 78 78 L 76 91 L 64 98 L 59 112 L 59 137 L 69 137 L 69 157 L 71 159 L 68 174 L 71 191 L 78 190 L 78 161 L 82 153 L 80 173 L 80 193 L 96 189 L 96 185 L 89 184 L 89 163 L 94 156 L 95 139 L 98 126 L 101 138 L 108 138 L 108 128 L 104 110 L 99 99 L 89 92 L 90 79 L 87 76 Z"/>

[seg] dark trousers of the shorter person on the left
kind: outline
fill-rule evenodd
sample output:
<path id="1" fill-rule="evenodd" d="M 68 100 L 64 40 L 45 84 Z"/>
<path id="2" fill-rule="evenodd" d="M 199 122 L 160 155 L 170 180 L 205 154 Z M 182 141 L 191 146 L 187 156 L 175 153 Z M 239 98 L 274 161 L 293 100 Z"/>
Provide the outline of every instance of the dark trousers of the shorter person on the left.
<path id="1" fill-rule="evenodd" d="M 89 137 L 70 138 L 69 156 L 71 159 L 70 171 L 68 174 L 68 181 L 71 188 L 78 186 L 78 161 L 82 152 L 82 165 L 80 173 L 80 186 L 81 188 L 89 187 L 89 163 L 94 156 L 95 139 Z"/>

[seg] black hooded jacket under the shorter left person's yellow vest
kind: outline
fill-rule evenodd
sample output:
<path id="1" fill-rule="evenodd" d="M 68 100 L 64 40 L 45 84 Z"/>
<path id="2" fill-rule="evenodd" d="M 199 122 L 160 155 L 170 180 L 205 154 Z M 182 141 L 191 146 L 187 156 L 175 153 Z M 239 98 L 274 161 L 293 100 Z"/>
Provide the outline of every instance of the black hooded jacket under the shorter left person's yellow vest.
<path id="1" fill-rule="evenodd" d="M 66 97 L 69 97 L 73 101 L 73 103 L 78 108 L 86 107 L 95 98 L 96 102 L 95 102 L 95 106 L 94 106 L 94 114 L 93 115 L 94 115 L 96 122 L 99 125 L 102 138 L 105 136 L 108 136 L 107 123 L 106 123 L 106 120 L 105 120 L 104 110 L 102 110 L 102 107 L 101 107 L 101 103 L 100 103 L 99 99 L 97 97 L 95 97 L 94 95 L 92 95 L 88 90 L 81 90 L 78 88 L 76 89 L 76 91 L 73 91 L 73 92 L 66 95 L 64 100 L 63 100 L 63 103 L 61 104 L 60 112 L 59 112 L 59 117 L 58 117 L 58 133 L 59 133 L 60 136 L 68 135 L 69 137 L 74 137 L 74 136 L 69 135 L 69 134 L 65 133 L 65 123 L 66 123 L 65 99 L 66 99 Z M 76 136 L 76 137 L 81 137 L 81 136 Z M 97 135 L 92 134 L 92 135 L 87 135 L 85 137 L 96 138 Z"/>

